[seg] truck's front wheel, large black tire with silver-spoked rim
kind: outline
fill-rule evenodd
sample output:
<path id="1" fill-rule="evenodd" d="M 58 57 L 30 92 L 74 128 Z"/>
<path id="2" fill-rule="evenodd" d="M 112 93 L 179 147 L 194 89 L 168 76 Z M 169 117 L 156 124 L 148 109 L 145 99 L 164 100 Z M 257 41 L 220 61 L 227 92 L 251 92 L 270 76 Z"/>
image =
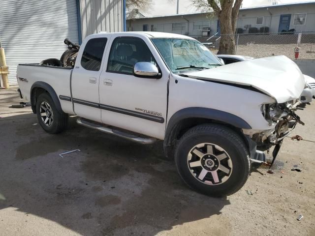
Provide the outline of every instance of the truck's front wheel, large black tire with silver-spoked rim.
<path id="1" fill-rule="evenodd" d="M 175 163 L 190 188 L 213 197 L 237 192 L 245 184 L 251 168 L 242 138 L 219 124 L 189 129 L 176 146 Z"/>

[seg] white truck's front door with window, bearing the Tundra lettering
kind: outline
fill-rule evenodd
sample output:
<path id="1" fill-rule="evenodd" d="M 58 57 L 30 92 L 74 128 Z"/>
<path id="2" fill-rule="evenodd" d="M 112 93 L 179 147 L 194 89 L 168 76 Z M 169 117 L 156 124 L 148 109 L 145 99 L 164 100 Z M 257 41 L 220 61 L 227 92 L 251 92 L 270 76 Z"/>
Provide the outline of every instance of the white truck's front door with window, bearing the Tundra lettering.
<path id="1" fill-rule="evenodd" d="M 146 37 L 122 35 L 111 41 L 107 66 L 104 65 L 99 83 L 102 122 L 162 139 L 169 73 L 162 71 L 160 79 L 133 75 L 133 66 L 137 62 L 151 62 L 158 68 L 158 64 L 162 64 L 158 53 L 151 52 L 147 46 L 152 42 Z"/>

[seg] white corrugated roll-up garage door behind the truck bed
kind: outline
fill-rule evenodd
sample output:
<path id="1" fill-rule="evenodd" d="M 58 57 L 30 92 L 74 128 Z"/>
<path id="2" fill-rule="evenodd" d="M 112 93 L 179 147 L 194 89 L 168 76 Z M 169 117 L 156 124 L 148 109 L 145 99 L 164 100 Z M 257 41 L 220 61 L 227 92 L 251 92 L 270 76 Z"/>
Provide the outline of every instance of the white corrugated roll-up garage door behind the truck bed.
<path id="1" fill-rule="evenodd" d="M 76 0 L 1 0 L 0 5 L 0 38 L 10 85 L 17 84 L 19 63 L 60 59 L 64 38 L 79 41 Z"/>

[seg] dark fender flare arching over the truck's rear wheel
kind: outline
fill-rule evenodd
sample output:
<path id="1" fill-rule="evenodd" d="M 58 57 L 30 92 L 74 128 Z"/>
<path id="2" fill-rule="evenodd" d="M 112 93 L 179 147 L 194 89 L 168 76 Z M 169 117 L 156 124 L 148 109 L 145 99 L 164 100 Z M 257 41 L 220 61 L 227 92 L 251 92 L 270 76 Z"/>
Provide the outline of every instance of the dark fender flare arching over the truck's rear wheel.
<path id="1" fill-rule="evenodd" d="M 60 101 L 59 101 L 59 98 L 57 96 L 57 93 L 55 92 L 55 90 L 53 89 L 53 87 L 51 87 L 49 84 L 45 83 L 45 82 L 42 82 L 42 81 L 37 81 L 35 82 L 32 87 L 31 87 L 31 105 L 32 105 L 32 111 L 34 114 L 36 114 L 36 99 L 34 97 L 34 94 L 33 94 L 33 89 L 36 89 L 36 88 L 41 88 L 41 89 L 45 89 L 49 95 L 51 96 L 51 98 L 53 99 L 53 102 L 56 106 L 56 109 L 58 110 L 58 112 L 60 112 L 61 114 L 63 114 L 63 109 L 61 108 L 61 105 L 60 105 Z"/>

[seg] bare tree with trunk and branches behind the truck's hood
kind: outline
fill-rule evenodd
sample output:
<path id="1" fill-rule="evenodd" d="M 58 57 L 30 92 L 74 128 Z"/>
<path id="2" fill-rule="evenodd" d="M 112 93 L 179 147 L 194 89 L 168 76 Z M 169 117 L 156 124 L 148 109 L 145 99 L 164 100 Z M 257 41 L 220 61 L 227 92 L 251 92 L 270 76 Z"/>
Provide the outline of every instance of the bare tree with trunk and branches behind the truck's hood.
<path id="1" fill-rule="evenodd" d="M 221 40 L 218 54 L 235 54 L 234 33 L 243 0 L 191 0 L 202 11 L 213 11 L 220 21 Z"/>

